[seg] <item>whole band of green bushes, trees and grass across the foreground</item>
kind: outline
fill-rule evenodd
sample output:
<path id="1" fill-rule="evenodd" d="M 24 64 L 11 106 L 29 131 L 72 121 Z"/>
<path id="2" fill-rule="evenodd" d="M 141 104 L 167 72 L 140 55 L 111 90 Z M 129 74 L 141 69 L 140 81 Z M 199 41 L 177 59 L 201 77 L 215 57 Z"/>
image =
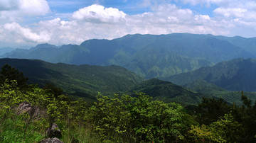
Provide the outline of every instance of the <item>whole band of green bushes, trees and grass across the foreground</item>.
<path id="1" fill-rule="evenodd" d="M 3 68 L 8 70 L 3 70 Z M 27 85 L 6 65 L 0 75 L 0 142 L 39 142 L 55 122 L 63 142 L 255 142 L 256 105 L 243 95 L 243 105 L 203 98 L 197 107 L 136 96 L 99 95 L 90 105 L 69 98 L 60 88 Z M 8 78 L 9 79 L 8 79 Z M 22 84 L 23 83 L 23 84 Z M 21 103 L 36 112 L 20 112 Z"/>

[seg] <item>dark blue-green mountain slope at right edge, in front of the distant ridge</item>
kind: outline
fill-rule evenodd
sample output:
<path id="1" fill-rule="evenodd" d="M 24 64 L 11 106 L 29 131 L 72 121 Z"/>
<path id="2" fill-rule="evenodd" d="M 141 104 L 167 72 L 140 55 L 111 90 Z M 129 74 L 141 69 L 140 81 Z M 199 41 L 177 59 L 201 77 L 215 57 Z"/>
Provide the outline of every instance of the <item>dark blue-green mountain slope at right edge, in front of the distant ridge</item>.
<path id="1" fill-rule="evenodd" d="M 233 59 L 165 79 L 185 85 L 201 79 L 231 91 L 256 91 L 256 59 Z"/>

